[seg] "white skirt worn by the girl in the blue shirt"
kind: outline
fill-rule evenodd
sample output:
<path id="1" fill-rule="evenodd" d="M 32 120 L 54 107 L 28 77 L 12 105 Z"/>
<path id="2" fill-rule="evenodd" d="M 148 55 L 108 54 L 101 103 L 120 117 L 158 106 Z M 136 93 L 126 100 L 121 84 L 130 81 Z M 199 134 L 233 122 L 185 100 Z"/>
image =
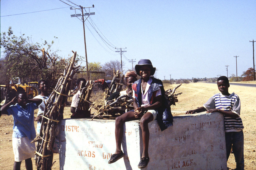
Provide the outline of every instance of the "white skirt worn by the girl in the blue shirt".
<path id="1" fill-rule="evenodd" d="M 12 140 L 15 162 L 20 162 L 35 156 L 35 143 L 30 143 L 32 140 L 28 139 L 28 137 L 13 137 Z"/>

